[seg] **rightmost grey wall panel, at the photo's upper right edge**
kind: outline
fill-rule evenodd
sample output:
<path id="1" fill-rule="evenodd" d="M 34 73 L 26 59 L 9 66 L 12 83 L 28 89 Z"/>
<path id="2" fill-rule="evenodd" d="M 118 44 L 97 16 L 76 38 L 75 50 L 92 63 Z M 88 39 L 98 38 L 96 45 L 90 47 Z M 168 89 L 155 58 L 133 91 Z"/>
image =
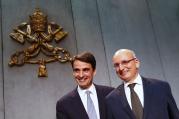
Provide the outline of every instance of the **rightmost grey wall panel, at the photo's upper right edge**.
<path id="1" fill-rule="evenodd" d="M 179 1 L 148 0 L 166 80 L 179 105 Z"/>

